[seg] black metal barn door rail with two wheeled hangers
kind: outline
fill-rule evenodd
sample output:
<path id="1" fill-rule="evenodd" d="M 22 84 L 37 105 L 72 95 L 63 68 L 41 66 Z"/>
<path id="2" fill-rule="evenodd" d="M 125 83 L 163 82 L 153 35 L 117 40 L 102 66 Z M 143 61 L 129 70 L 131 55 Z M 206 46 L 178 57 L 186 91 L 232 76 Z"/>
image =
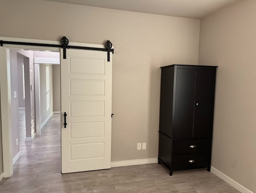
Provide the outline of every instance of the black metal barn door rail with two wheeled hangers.
<path id="1" fill-rule="evenodd" d="M 110 62 L 110 52 L 114 54 L 114 49 L 112 48 L 112 43 L 107 40 L 105 44 L 105 48 L 92 48 L 92 47 L 84 47 L 84 46 L 68 46 L 68 38 L 66 36 L 63 36 L 60 39 L 61 45 L 56 44 L 40 44 L 40 43 L 31 43 L 31 42 L 11 42 L 11 41 L 4 41 L 0 40 L 0 46 L 3 46 L 3 44 L 14 44 L 14 45 L 23 45 L 23 46 L 44 46 L 44 47 L 54 47 L 54 48 L 63 48 L 63 59 L 66 59 L 66 49 L 82 49 L 82 50 L 96 50 L 96 51 L 102 51 L 107 52 L 108 54 L 108 62 Z"/>

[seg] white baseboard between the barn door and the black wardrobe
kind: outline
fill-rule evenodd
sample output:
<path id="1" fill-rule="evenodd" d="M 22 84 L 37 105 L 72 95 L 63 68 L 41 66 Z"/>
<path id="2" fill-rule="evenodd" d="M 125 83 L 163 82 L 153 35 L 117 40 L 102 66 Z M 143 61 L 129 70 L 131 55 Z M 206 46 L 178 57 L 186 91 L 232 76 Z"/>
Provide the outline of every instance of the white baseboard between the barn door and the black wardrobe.
<path id="1" fill-rule="evenodd" d="M 111 167 L 120 167 L 127 165 L 141 165 L 148 163 L 157 163 L 157 157 L 148 158 L 148 159 L 132 159 L 132 160 L 124 160 L 124 161 L 111 161 Z"/>

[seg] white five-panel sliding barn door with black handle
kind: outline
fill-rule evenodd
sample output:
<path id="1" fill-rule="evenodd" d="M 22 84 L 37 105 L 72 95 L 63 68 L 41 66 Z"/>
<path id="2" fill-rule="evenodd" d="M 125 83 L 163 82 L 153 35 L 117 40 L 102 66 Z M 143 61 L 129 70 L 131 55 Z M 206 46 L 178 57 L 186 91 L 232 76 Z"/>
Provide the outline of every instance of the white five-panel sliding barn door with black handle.
<path id="1" fill-rule="evenodd" d="M 61 53 L 62 173 L 110 168 L 112 54 L 92 50 Z M 66 128 L 64 128 L 66 112 Z"/>

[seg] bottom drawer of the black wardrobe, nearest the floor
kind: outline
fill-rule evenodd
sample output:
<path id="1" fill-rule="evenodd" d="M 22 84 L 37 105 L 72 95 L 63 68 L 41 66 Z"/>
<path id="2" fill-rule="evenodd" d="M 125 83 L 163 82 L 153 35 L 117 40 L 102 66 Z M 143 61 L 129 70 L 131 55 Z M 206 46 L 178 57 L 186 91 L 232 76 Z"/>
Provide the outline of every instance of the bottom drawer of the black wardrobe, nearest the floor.
<path id="1" fill-rule="evenodd" d="M 195 169 L 208 166 L 208 153 L 174 155 L 173 168 L 180 169 Z"/>

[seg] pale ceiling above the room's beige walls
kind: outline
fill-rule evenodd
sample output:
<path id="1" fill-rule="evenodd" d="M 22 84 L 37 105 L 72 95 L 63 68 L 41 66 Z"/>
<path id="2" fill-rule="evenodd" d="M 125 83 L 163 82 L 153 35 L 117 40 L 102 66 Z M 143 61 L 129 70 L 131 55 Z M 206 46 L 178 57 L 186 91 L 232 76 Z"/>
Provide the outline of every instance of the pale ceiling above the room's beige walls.
<path id="1" fill-rule="evenodd" d="M 237 0 L 47 0 L 133 12 L 201 19 Z"/>

